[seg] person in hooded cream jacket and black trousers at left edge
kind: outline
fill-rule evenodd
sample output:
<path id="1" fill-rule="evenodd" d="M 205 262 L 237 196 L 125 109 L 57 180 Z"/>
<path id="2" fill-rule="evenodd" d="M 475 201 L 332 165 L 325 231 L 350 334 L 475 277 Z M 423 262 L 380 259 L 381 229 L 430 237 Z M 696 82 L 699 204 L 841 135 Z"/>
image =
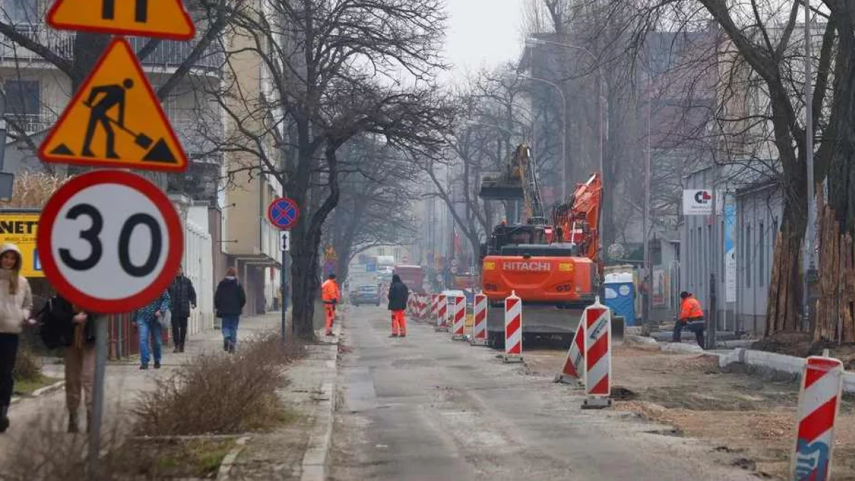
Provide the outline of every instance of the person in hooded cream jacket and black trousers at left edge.
<path id="1" fill-rule="evenodd" d="M 32 291 L 21 276 L 21 251 L 15 244 L 0 246 L 0 432 L 9 429 L 12 369 L 18 357 L 18 340 L 32 311 Z"/>

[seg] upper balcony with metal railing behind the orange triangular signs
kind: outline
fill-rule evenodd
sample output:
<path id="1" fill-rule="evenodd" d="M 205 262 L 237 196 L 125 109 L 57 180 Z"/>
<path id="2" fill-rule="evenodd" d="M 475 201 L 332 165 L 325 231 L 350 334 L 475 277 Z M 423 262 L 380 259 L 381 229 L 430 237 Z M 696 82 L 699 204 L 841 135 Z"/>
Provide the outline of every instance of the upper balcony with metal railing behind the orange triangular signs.
<path id="1" fill-rule="evenodd" d="M 56 31 L 42 24 L 22 24 L 16 26 L 15 30 L 27 39 L 44 45 L 63 58 L 74 56 L 74 40 L 76 39 L 74 33 Z M 142 49 L 150 41 L 150 39 L 140 37 L 127 37 L 127 40 L 133 46 L 133 50 L 136 51 Z M 178 68 L 196 45 L 198 45 L 197 39 L 189 42 L 162 40 L 160 45 L 157 45 L 157 48 L 149 56 L 146 56 L 142 63 L 145 67 Z M 42 62 L 42 57 L 0 35 L 0 62 L 15 62 L 16 66 L 26 68 L 27 62 Z M 202 56 L 196 60 L 193 67 L 216 73 L 219 72 L 223 62 L 225 62 L 225 55 L 220 45 L 215 42 L 203 51 Z"/>

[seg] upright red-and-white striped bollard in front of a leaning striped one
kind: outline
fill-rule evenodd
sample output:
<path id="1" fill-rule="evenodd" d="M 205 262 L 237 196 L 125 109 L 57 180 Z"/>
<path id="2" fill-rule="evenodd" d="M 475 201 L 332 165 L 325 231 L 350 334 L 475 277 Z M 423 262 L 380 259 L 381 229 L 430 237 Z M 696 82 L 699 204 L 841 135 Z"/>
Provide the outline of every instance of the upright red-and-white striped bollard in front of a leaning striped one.
<path id="1" fill-rule="evenodd" d="M 582 408 L 611 406 L 611 311 L 599 303 L 585 308 L 585 394 Z"/>

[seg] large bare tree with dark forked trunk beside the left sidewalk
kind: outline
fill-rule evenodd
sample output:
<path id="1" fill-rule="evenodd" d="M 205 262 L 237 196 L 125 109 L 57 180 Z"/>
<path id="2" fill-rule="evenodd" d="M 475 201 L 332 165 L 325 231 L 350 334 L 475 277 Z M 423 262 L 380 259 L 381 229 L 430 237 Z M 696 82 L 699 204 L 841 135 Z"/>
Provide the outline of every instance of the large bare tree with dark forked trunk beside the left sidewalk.
<path id="1" fill-rule="evenodd" d="M 294 330 L 313 339 L 322 227 L 341 196 L 339 148 L 376 134 L 413 156 L 436 150 L 452 110 L 435 85 L 439 0 L 265 0 L 237 13 L 229 69 L 260 59 L 262 88 L 215 92 L 242 154 L 230 171 L 271 175 L 301 207 L 292 229 Z M 229 74 L 227 78 L 236 78 Z"/>

